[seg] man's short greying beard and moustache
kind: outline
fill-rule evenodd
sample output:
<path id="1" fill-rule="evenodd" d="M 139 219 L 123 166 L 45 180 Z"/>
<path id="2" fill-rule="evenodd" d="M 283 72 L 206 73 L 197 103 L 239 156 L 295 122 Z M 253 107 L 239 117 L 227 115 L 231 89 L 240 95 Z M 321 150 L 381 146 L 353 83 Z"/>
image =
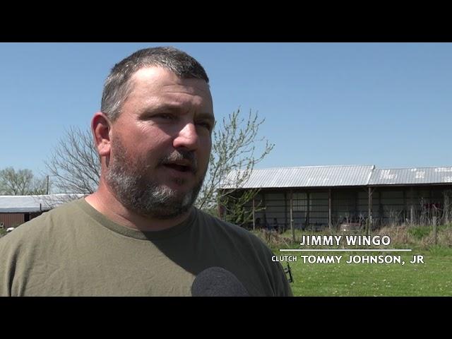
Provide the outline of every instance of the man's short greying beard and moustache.
<path id="1" fill-rule="evenodd" d="M 105 179 L 124 207 L 147 218 L 171 219 L 186 213 L 193 206 L 207 168 L 194 187 L 182 194 L 150 179 L 148 169 L 151 165 L 147 165 L 143 158 L 129 155 L 119 138 L 112 138 L 112 151 L 114 156 L 110 157 Z M 174 150 L 162 157 L 157 166 L 177 160 L 190 160 L 192 172 L 196 172 L 196 157 L 186 150 Z M 184 179 L 174 180 L 179 185 L 185 182 Z"/>

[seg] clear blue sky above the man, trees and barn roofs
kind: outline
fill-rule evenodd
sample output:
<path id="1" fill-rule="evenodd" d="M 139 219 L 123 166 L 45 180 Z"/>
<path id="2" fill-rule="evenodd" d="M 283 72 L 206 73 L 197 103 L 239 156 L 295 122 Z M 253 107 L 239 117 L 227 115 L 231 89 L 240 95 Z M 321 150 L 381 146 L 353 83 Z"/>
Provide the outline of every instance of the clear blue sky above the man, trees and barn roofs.
<path id="1" fill-rule="evenodd" d="M 452 165 L 451 43 L 0 43 L 0 169 L 45 172 L 112 66 L 165 45 L 203 64 L 218 120 L 266 119 L 275 148 L 257 168 Z"/>

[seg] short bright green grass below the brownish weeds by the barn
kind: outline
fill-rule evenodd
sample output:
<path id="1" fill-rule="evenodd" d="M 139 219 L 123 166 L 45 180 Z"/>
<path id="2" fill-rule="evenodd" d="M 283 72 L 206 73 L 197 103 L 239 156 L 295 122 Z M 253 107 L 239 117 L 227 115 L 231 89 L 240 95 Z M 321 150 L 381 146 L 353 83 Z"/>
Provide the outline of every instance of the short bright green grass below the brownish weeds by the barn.
<path id="1" fill-rule="evenodd" d="M 289 263 L 294 279 L 292 291 L 295 296 L 452 296 L 452 255 L 430 252 L 423 255 L 424 264 L 411 264 L 408 263 L 410 255 L 403 254 L 403 266 L 400 263 L 347 264 L 344 260 L 303 263 L 298 258 L 296 263 Z"/>

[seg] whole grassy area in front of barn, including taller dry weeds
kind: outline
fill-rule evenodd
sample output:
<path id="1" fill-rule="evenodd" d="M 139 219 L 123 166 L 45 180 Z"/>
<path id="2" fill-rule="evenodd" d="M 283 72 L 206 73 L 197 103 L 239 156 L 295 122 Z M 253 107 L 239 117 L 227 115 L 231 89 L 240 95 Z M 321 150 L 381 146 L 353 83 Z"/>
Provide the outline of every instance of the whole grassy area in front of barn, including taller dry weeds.
<path id="1" fill-rule="evenodd" d="M 375 252 L 281 252 L 279 249 L 321 249 L 321 246 L 290 244 L 291 234 L 289 233 L 280 234 L 274 241 L 267 243 L 276 256 L 297 256 L 297 262 L 289 263 L 294 280 L 290 285 L 295 296 L 452 296 L 451 230 L 451 225 L 441 227 L 439 244 L 436 245 L 432 233 L 428 230 L 427 232 L 418 230 L 413 232 L 412 229 L 408 229 L 407 232 L 401 229 L 391 230 L 389 232 L 398 232 L 398 234 L 391 234 L 391 239 L 394 241 L 390 248 L 412 249 L 412 252 L 398 253 L 378 250 Z M 297 238 L 300 235 L 297 234 Z M 261 236 L 261 238 L 265 240 L 265 237 Z M 400 239 L 400 242 L 396 239 Z M 380 254 L 400 255 L 405 265 L 345 263 L 350 255 Z M 343 255 L 343 258 L 340 263 L 304 263 L 300 255 Z M 424 263 L 409 263 L 413 255 L 424 256 Z M 285 262 L 282 265 L 287 267 Z"/>

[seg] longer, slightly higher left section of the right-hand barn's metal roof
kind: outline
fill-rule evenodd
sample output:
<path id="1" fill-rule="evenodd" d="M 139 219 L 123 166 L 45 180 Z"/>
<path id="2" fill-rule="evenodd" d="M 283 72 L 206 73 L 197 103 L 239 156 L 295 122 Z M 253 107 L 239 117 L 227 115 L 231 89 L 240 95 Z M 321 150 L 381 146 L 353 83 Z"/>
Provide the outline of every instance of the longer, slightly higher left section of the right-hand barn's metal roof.
<path id="1" fill-rule="evenodd" d="M 241 186 L 251 188 L 364 186 L 369 182 L 374 165 L 309 166 L 254 169 Z M 237 188 L 232 183 L 237 172 L 223 181 L 222 189 Z"/>

